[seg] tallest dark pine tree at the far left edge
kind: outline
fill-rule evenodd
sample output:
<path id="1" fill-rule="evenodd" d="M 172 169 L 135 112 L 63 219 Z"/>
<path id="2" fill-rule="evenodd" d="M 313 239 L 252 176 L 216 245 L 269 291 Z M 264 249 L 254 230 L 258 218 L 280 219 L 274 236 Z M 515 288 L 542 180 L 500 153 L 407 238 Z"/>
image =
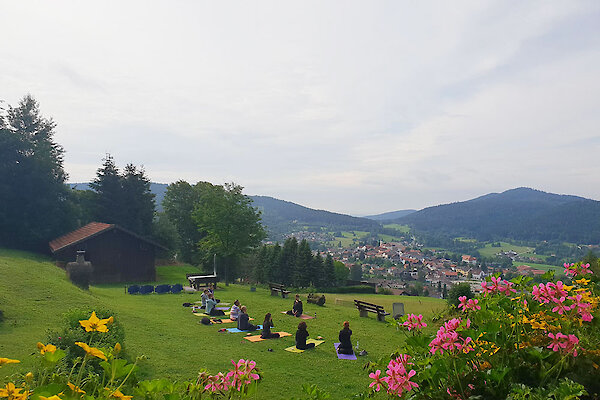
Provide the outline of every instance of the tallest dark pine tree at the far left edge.
<path id="1" fill-rule="evenodd" d="M 55 127 L 30 95 L 0 114 L 0 247 L 44 251 L 74 228 Z"/>

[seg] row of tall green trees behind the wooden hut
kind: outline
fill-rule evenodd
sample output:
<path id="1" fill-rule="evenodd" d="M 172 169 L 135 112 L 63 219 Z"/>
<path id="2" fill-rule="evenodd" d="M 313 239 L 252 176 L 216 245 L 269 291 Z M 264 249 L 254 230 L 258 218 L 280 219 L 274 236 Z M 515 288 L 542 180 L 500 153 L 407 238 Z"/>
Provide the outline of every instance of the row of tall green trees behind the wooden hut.
<path id="1" fill-rule="evenodd" d="M 50 240 L 97 221 L 155 240 L 195 265 L 216 255 L 234 277 L 240 259 L 265 237 L 260 213 L 233 183 L 176 182 L 165 212 L 156 213 L 143 167 L 120 170 L 107 154 L 92 190 L 70 189 L 55 128 L 30 95 L 0 108 L 0 247 L 47 252 Z"/>

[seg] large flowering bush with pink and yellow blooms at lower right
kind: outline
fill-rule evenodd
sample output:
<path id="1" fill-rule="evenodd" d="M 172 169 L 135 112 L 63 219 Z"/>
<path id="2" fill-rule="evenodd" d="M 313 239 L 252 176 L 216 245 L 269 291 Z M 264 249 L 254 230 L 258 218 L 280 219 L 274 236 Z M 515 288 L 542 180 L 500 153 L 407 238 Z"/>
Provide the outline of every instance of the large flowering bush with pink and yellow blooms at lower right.
<path id="1" fill-rule="evenodd" d="M 410 399 L 577 399 L 600 393 L 600 297 L 587 264 L 565 264 L 567 280 L 533 285 L 493 276 L 478 298 L 435 335 L 398 322 L 407 339 L 390 359 L 369 363 L 367 396 Z M 410 362 L 409 362 L 410 361 Z M 385 374 L 382 372 L 385 371 Z"/>

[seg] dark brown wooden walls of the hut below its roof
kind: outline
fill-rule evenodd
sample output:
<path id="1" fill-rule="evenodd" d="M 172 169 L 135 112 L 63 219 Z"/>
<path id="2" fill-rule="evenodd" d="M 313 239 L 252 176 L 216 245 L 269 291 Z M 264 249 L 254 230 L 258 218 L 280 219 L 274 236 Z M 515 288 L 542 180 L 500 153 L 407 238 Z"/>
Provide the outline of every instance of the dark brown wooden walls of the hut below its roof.
<path id="1" fill-rule="evenodd" d="M 64 262 L 75 261 L 85 250 L 85 260 L 94 268 L 94 283 L 148 282 L 156 279 L 155 248 L 150 243 L 118 229 L 94 236 L 55 253 Z"/>

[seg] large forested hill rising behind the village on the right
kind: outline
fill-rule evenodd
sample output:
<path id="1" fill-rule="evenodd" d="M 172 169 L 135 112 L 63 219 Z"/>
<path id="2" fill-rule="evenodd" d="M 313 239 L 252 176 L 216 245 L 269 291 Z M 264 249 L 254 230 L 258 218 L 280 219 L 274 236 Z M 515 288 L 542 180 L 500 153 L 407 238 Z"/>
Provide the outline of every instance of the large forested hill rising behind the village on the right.
<path id="1" fill-rule="evenodd" d="M 428 207 L 394 222 L 417 231 L 479 240 L 600 242 L 600 202 L 529 188 Z"/>

